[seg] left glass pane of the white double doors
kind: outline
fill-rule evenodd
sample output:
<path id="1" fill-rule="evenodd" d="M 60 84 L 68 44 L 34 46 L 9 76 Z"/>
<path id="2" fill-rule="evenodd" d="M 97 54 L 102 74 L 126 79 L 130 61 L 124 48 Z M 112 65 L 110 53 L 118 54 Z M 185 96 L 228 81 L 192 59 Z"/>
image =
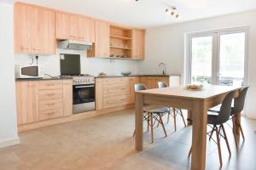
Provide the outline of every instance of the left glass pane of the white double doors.
<path id="1" fill-rule="evenodd" d="M 212 83 L 212 37 L 192 38 L 191 83 Z"/>

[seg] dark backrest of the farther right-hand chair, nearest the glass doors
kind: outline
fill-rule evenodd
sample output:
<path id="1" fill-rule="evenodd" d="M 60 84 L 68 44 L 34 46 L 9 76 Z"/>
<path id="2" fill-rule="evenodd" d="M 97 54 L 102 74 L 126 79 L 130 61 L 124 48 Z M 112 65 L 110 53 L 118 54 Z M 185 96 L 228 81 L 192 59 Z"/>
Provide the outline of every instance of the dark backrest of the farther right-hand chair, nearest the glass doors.
<path id="1" fill-rule="evenodd" d="M 241 93 L 236 98 L 236 102 L 232 111 L 233 114 L 240 114 L 243 110 L 248 88 L 249 87 L 242 88 Z"/>

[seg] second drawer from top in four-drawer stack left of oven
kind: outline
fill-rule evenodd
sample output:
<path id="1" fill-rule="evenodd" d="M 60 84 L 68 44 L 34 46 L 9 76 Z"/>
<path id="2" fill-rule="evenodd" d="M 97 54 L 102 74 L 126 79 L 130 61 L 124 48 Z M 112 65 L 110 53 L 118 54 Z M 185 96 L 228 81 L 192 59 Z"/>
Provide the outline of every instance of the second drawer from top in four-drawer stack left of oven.
<path id="1" fill-rule="evenodd" d="M 62 96 L 63 96 L 62 89 L 40 90 L 39 91 L 39 100 L 44 100 L 44 99 L 62 99 Z"/>

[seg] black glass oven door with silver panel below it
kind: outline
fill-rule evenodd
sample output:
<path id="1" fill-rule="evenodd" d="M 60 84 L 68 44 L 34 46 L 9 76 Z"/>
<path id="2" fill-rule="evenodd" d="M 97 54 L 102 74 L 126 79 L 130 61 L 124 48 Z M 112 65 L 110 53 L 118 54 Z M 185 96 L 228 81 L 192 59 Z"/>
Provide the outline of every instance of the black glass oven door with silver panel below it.
<path id="1" fill-rule="evenodd" d="M 95 84 L 73 85 L 73 113 L 95 110 Z"/>

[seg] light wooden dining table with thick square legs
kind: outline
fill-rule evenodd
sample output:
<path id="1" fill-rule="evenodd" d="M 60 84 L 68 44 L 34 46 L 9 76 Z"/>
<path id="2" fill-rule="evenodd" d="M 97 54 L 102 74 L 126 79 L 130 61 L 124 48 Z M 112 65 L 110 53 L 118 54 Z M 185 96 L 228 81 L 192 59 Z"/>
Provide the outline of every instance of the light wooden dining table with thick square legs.
<path id="1" fill-rule="evenodd" d="M 191 169 L 203 170 L 206 166 L 207 146 L 207 111 L 220 105 L 226 94 L 236 91 L 234 100 L 241 91 L 241 87 L 208 85 L 201 90 L 188 90 L 185 86 L 170 88 L 154 88 L 136 92 L 135 114 L 135 148 L 143 150 L 143 105 L 160 105 L 188 110 L 188 116 L 192 123 L 192 157 Z M 240 116 L 236 117 L 240 122 Z M 239 128 L 236 128 L 239 129 Z M 239 139 L 239 132 L 235 132 Z M 172 138 L 172 137 L 171 137 Z"/>

